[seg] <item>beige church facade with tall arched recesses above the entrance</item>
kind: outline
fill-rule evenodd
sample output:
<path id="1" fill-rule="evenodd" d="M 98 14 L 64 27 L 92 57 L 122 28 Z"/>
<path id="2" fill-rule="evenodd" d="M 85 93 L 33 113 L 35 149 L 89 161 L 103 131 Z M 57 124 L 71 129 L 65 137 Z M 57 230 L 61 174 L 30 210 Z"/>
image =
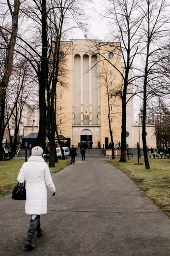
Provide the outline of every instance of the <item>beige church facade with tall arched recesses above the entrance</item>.
<path id="1" fill-rule="evenodd" d="M 111 141 L 108 122 L 110 96 L 111 125 L 114 141 L 121 140 L 121 99 L 114 97 L 122 86 L 121 58 L 117 44 L 102 41 L 73 40 L 65 42 L 64 74 L 57 84 L 58 133 L 71 138 L 71 145 L 92 140 L 101 147 L 105 138 Z M 116 67 L 110 63 L 113 63 Z M 63 73 L 63 68 L 61 69 Z M 109 93 L 107 93 L 107 90 Z M 113 96 L 112 96 L 113 95 Z M 128 105 L 129 144 L 132 144 L 133 102 Z"/>

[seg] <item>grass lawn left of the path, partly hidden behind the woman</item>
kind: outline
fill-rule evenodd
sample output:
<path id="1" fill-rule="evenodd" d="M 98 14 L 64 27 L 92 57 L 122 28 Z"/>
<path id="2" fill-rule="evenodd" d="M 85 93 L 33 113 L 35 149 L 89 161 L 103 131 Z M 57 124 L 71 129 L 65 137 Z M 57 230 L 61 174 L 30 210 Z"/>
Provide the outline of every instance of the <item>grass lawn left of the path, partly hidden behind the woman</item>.
<path id="1" fill-rule="evenodd" d="M 0 198 L 8 195 L 17 184 L 17 176 L 25 160 L 12 159 L 9 161 L 0 161 Z M 58 160 L 55 167 L 50 168 L 51 173 L 56 173 L 67 167 L 70 160 Z"/>

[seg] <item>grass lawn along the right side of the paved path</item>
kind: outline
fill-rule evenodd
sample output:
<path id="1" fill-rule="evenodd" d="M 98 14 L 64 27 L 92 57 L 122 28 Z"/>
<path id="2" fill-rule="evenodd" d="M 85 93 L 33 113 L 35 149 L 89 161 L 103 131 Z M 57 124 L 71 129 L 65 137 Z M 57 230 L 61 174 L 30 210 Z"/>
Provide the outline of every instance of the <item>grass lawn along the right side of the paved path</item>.
<path id="1" fill-rule="evenodd" d="M 150 169 L 147 170 L 144 159 L 140 159 L 142 165 L 135 164 L 137 159 L 107 161 L 126 173 L 170 218 L 170 159 L 149 159 Z"/>

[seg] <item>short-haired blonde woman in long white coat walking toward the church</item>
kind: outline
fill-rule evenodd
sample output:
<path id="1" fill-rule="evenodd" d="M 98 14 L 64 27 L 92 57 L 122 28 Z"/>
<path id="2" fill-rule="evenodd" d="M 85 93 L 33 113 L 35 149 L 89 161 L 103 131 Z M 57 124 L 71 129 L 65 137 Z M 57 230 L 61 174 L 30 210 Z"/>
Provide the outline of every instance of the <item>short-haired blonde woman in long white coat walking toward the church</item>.
<path id="1" fill-rule="evenodd" d="M 47 213 L 47 189 L 55 195 L 56 188 L 53 183 L 48 164 L 42 158 L 43 149 L 39 146 L 32 148 L 31 156 L 28 162 L 21 167 L 18 175 L 18 182 L 26 181 L 26 214 L 31 215 L 30 225 L 28 228 L 27 241 L 25 248 L 33 250 L 35 246 L 32 244 L 35 231 L 38 237 L 42 235 L 40 227 L 40 215 Z"/>

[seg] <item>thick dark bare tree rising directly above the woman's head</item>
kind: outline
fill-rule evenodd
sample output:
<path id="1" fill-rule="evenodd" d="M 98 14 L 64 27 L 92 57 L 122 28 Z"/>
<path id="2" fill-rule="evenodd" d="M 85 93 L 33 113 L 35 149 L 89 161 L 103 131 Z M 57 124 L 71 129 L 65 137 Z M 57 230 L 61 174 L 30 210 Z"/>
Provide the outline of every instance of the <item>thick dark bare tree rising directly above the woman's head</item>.
<path id="1" fill-rule="evenodd" d="M 28 32 L 28 36 L 24 31 L 21 31 L 18 54 L 26 58 L 34 75 L 37 76 L 37 86 L 39 85 L 39 132 L 36 144 L 44 148 L 47 133 L 46 88 L 49 66 L 46 0 L 25 2 L 21 11 L 25 22 L 24 29 Z"/>

